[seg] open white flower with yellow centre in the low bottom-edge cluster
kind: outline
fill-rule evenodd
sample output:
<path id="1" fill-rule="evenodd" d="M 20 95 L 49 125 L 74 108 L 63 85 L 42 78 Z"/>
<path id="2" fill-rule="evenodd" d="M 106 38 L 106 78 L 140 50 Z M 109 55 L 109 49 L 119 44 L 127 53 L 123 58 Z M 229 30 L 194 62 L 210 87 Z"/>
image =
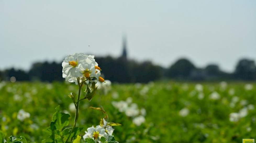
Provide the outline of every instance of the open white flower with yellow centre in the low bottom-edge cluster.
<path id="1" fill-rule="evenodd" d="M 100 142 L 100 139 L 102 136 L 105 135 L 105 129 L 101 127 L 100 125 L 94 127 L 87 128 L 87 131 L 85 131 L 85 135 L 83 138 L 92 138 L 95 142 Z M 106 137 L 106 135 L 104 136 Z"/>

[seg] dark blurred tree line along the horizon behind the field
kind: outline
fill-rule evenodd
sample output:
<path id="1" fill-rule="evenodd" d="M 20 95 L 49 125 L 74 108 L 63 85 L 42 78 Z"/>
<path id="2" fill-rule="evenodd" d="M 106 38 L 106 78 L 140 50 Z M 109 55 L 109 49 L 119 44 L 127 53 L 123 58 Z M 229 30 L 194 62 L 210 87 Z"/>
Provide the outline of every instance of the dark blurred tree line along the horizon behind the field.
<path id="1" fill-rule="evenodd" d="M 137 62 L 125 57 L 96 57 L 105 79 L 119 83 L 149 82 L 161 79 L 213 81 L 213 80 L 256 80 L 255 62 L 250 59 L 238 61 L 233 73 L 225 73 L 217 64 L 209 64 L 205 68 L 197 68 L 188 59 L 182 58 L 169 68 L 152 64 L 150 61 Z M 64 81 L 62 65 L 56 62 L 36 62 L 28 72 L 14 68 L 0 72 L 0 80 L 16 81 Z"/>

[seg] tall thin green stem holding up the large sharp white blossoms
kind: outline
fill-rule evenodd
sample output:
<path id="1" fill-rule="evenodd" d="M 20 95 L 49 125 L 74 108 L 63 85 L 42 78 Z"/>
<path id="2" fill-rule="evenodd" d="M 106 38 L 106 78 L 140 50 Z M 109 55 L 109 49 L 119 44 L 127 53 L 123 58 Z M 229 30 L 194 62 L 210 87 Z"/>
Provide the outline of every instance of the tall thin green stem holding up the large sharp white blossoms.
<path id="1" fill-rule="evenodd" d="M 81 83 L 80 85 L 80 80 L 79 80 L 79 77 L 77 78 L 77 83 L 78 83 L 78 86 L 79 86 L 79 91 L 78 91 L 78 96 L 77 96 L 77 102 L 75 104 L 75 107 L 76 107 L 76 114 L 75 114 L 75 121 L 74 121 L 74 125 L 69 133 L 69 136 L 67 138 L 67 140 L 65 141 L 65 143 L 68 142 L 70 136 L 71 136 L 71 133 L 73 132 L 74 128 L 76 127 L 76 123 L 77 123 L 77 120 L 78 120 L 78 110 L 79 110 L 79 101 L 80 101 L 80 93 L 81 93 L 81 89 L 82 89 L 82 86 L 83 86 L 83 83 Z M 72 138 L 71 138 L 72 140 Z M 70 140 L 70 141 L 71 141 Z"/>

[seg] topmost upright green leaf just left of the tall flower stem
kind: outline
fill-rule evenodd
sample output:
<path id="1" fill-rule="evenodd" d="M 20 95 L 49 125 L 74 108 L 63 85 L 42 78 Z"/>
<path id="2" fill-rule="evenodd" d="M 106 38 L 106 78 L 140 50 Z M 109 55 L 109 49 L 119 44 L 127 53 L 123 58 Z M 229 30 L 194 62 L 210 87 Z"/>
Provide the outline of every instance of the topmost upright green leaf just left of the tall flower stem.
<path id="1" fill-rule="evenodd" d="M 65 126 L 69 125 L 68 118 L 70 117 L 70 115 L 66 113 L 60 113 L 59 106 L 57 106 L 55 109 L 56 109 L 56 112 L 53 114 L 52 121 L 56 120 L 56 123 L 55 123 L 56 129 L 59 131 L 62 131 L 62 129 Z"/>

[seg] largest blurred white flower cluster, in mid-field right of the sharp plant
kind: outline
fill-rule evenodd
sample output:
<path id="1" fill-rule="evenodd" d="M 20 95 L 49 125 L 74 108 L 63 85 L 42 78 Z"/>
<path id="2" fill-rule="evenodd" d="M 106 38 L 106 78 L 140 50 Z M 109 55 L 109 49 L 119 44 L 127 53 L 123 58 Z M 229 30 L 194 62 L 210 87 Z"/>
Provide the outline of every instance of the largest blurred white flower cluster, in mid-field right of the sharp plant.
<path id="1" fill-rule="evenodd" d="M 132 103 L 132 98 L 128 97 L 126 101 L 113 101 L 112 105 L 119 110 L 119 112 L 124 112 L 126 116 L 132 117 L 132 122 L 140 126 L 145 122 L 146 109 L 138 109 L 138 105 L 136 103 Z"/>

